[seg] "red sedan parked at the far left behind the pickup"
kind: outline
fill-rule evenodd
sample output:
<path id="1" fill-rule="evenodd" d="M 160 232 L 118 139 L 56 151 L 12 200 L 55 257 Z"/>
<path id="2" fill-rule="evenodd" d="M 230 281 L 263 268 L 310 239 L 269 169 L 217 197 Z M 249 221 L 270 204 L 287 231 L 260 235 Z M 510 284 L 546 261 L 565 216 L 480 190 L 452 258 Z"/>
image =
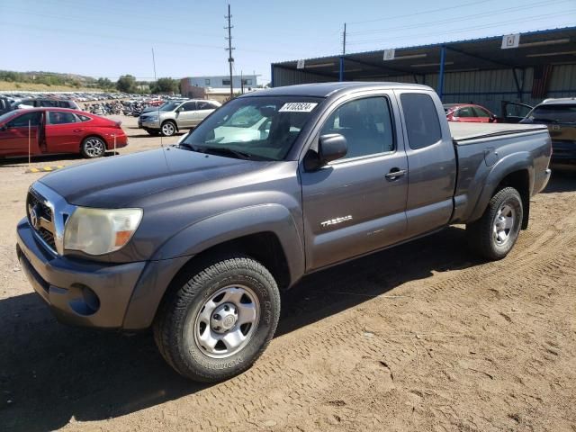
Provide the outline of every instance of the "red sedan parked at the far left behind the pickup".
<path id="1" fill-rule="evenodd" d="M 30 133 L 29 133 L 30 130 Z M 120 121 L 65 108 L 32 108 L 0 116 L 0 157 L 80 153 L 101 157 L 106 150 L 126 147 Z"/>

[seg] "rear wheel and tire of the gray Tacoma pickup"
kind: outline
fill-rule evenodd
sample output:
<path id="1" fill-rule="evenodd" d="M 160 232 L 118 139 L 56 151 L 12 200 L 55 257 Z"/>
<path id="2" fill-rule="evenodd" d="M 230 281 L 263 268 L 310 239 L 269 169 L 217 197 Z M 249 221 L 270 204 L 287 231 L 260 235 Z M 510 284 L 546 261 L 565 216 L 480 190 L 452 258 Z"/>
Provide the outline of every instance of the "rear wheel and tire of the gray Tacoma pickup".
<path id="1" fill-rule="evenodd" d="M 502 221 L 509 220 L 507 215 L 513 219 Z M 520 193 L 513 187 L 500 189 L 492 196 L 482 218 L 466 225 L 469 247 L 474 253 L 491 261 L 506 257 L 516 244 L 523 215 Z M 507 223 L 509 229 L 504 228 Z"/>

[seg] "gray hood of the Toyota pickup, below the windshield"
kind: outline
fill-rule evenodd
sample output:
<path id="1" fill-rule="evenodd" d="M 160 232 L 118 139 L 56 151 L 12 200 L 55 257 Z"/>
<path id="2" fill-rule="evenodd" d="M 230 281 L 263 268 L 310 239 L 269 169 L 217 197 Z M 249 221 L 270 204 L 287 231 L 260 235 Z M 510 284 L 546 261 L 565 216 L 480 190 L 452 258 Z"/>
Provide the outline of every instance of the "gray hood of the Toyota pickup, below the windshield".
<path id="1" fill-rule="evenodd" d="M 147 195 L 256 171 L 268 164 L 167 147 L 70 166 L 45 175 L 40 182 L 71 204 L 121 208 Z"/>

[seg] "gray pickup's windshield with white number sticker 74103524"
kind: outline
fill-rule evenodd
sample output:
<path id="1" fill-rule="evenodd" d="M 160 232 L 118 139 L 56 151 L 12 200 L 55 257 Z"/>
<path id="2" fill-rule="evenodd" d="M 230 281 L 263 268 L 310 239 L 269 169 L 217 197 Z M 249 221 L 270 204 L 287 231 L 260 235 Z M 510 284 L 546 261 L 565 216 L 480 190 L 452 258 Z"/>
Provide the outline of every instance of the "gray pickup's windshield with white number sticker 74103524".
<path id="1" fill-rule="evenodd" d="M 180 145 L 222 156 L 283 160 L 321 101 L 298 96 L 238 98 L 202 121 Z"/>

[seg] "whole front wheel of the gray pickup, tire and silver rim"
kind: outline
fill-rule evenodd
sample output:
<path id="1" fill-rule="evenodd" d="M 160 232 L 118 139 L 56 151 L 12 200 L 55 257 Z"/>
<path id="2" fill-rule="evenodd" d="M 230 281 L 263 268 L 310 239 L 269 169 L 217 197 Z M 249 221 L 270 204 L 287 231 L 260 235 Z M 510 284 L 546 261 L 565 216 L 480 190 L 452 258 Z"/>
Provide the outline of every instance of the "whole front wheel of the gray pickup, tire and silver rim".
<path id="1" fill-rule="evenodd" d="M 280 293 L 252 258 L 197 266 L 174 288 L 160 306 L 154 336 L 166 362 L 186 378 L 213 383 L 241 374 L 274 336 Z"/>

